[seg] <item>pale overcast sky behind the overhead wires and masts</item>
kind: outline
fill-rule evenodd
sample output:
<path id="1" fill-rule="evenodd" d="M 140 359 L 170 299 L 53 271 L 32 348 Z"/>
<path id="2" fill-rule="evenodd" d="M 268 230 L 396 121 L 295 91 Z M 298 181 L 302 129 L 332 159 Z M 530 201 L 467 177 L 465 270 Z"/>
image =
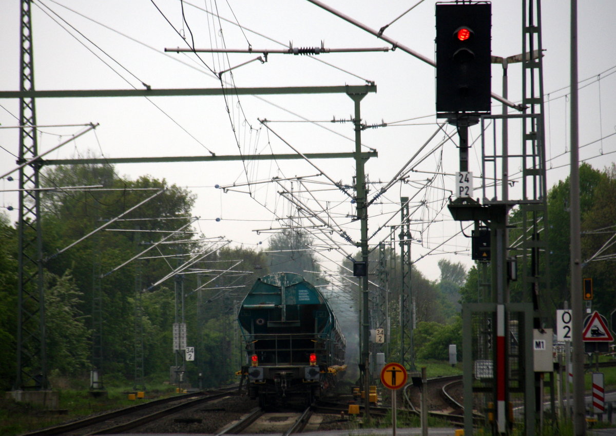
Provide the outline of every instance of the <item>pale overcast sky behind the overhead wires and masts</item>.
<path id="1" fill-rule="evenodd" d="M 19 88 L 19 4 L 1 0 L 0 90 Z M 326 2 L 334 9 L 365 25 L 379 29 L 403 14 L 411 2 L 364 0 Z M 419 54 L 434 59 L 434 1 L 420 2 L 392 23 L 384 34 Z M 492 54 L 507 57 L 522 51 L 521 0 L 498 0 L 492 4 Z M 326 48 L 389 47 L 357 26 L 344 22 L 308 1 L 184 1 L 179 0 L 36 0 L 33 2 L 34 72 L 37 90 L 62 89 L 153 89 L 362 85 L 373 81 L 378 92 L 362 100 L 363 122 L 387 123 L 387 127 L 362 132 L 364 151 L 378 151 L 366 166 L 372 198 L 402 169 L 403 164 L 428 142 L 437 130 L 434 104 L 434 68 L 403 52 L 321 54 L 293 56 L 270 54 L 224 73 L 213 73 L 249 60 L 252 54 L 164 53 L 165 47 L 273 50 L 288 47 Z M 157 9 L 158 7 L 158 9 Z M 541 4 L 545 57 L 545 123 L 548 186 L 569 173 L 569 2 L 544 0 Z M 209 14 L 212 12 L 213 14 Z M 216 17 L 215 14 L 219 14 Z M 616 2 L 579 2 L 580 158 L 603 169 L 616 158 L 616 46 L 613 43 Z M 184 35 L 185 39 L 181 35 Z M 521 100 L 521 66 L 509 66 L 509 99 Z M 501 94 L 500 65 L 492 68 L 492 90 Z M 158 97 L 145 99 L 91 98 L 38 99 L 36 117 L 40 126 L 100 123 L 47 158 L 72 156 L 195 156 L 251 155 L 354 151 L 354 132 L 348 121 L 353 113 L 347 95 Z M 0 124 L 16 126 L 17 100 L 0 100 Z M 493 113 L 501 113 L 493 101 Z M 267 129 L 259 119 L 267 119 Z M 442 120 L 440 120 L 442 122 Z M 41 127 L 39 152 L 49 150 L 84 127 Z M 519 150 L 520 126 L 510 126 L 510 149 Z M 445 127 L 455 138 L 455 129 Z M 479 127 L 471 129 L 470 170 L 481 172 Z M 446 204 L 455 188 L 458 150 L 440 131 L 419 153 L 415 170 L 405 183 L 394 184 L 370 207 L 368 234 L 373 246 L 390 241 L 392 225 L 400 223 L 401 196 L 410 197 L 413 220 L 411 257 L 428 278 L 439 276 L 437 261 L 443 257 L 471 265 L 469 239 L 460 234 Z M 439 146 L 440 145 L 440 146 Z M 17 129 L 0 129 L 0 173 L 14 168 L 18 153 Z M 499 145 L 500 147 L 500 145 Z M 428 153 L 430 151 L 430 153 Z M 423 160 L 422 160 L 423 159 Z M 352 159 L 304 161 L 257 161 L 256 163 L 164 163 L 122 164 L 118 174 L 136 179 L 149 174 L 170 184 L 187 187 L 198 196 L 195 216 L 198 230 L 206 236 L 224 236 L 235 244 L 267 248 L 269 229 L 285 225 L 310 226 L 299 218 L 306 208 L 318 212 L 328 225 L 359 241 L 359 226 L 352 222 L 351 198 L 335 188 L 333 181 L 352 185 Z M 515 169 L 515 168 L 514 168 Z M 516 171 L 511 171 L 515 173 Z M 322 174 L 318 176 L 318 174 Z M 17 174 L 13 174 L 15 179 Z M 258 183 L 274 177 L 302 177 Z M 250 182 L 250 184 L 248 184 Z M 235 188 L 224 192 L 215 186 Z M 483 193 L 480 179 L 474 197 Z M 17 195 L 6 192 L 17 182 L 0 181 L 0 206 L 17 220 Z M 283 191 L 293 192 L 296 203 Z M 515 194 L 515 188 L 512 190 Z M 290 197 L 290 195 L 286 195 Z M 301 201 L 301 203 L 299 203 Z M 304 211 L 298 211 L 298 205 Z M 327 210 L 328 213 L 323 212 Z M 216 220 L 220 219 L 220 220 Z M 463 227 L 470 223 L 463 223 Z M 256 230 L 259 230 L 257 232 Z M 313 232 L 321 248 L 322 268 L 336 270 L 335 262 L 357 248 L 336 232 Z M 326 230 L 326 228 L 323 228 Z M 394 232 L 397 236 L 398 230 Z M 470 228 L 466 230 L 470 233 Z M 456 236 L 457 235 L 457 236 Z M 331 238 L 331 240 L 330 240 Z M 334 248 L 338 244 L 338 249 Z M 397 244 L 396 244 L 397 245 Z M 398 248 L 397 248 L 398 249 Z"/>

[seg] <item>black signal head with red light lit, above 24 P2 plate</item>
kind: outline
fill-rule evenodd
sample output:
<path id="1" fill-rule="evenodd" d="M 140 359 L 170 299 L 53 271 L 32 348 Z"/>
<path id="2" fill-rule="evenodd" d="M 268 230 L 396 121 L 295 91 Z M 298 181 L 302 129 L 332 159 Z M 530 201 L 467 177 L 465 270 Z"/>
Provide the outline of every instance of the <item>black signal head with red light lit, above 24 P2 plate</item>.
<path id="1" fill-rule="evenodd" d="M 436 5 L 436 111 L 490 112 L 492 5 Z"/>

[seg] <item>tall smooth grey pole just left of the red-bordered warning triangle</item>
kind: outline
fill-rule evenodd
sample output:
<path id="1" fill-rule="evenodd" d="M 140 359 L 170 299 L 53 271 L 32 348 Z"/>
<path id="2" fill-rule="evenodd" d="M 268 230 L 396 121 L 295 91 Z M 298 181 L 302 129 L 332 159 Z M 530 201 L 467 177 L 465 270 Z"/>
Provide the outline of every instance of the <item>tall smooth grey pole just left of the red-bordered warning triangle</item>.
<path id="1" fill-rule="evenodd" d="M 582 248 L 580 245 L 580 168 L 578 164 L 577 0 L 571 0 L 571 310 L 573 347 L 573 434 L 586 434 L 584 410 L 584 344 L 582 341 Z"/>

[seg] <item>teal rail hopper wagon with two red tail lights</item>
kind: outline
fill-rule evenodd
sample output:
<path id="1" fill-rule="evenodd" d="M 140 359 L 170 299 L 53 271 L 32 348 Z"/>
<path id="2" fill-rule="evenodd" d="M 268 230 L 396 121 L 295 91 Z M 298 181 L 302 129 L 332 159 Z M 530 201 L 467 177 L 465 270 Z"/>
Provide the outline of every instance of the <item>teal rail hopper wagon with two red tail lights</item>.
<path id="1" fill-rule="evenodd" d="M 241 381 L 265 407 L 312 403 L 344 373 L 344 336 L 331 307 L 301 275 L 272 273 L 250 289 L 238 315 L 246 347 Z"/>

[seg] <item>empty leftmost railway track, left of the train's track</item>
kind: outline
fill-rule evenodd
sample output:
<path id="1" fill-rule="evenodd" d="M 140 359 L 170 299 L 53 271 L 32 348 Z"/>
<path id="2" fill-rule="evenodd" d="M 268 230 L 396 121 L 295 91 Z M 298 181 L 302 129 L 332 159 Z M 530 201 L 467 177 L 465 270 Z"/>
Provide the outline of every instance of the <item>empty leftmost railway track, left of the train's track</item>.
<path id="1" fill-rule="evenodd" d="M 59 426 L 37 430 L 22 436 L 84 436 L 121 433 L 144 426 L 145 424 L 162 419 L 179 411 L 185 411 L 203 403 L 208 403 L 222 397 L 228 397 L 229 395 L 235 395 L 236 392 L 237 387 L 232 387 L 228 389 L 161 398 L 136 406 L 98 414 L 78 421 L 68 422 Z"/>

